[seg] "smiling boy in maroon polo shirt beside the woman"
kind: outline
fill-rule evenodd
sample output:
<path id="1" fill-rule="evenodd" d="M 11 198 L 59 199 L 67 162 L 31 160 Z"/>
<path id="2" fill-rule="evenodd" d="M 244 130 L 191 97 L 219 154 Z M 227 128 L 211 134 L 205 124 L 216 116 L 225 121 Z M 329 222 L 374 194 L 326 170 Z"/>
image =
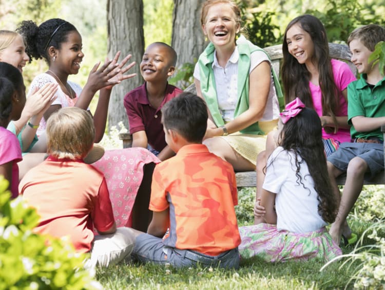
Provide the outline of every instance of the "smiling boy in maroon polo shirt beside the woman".
<path id="1" fill-rule="evenodd" d="M 161 108 L 182 90 L 167 83 L 175 72 L 177 53 L 163 43 L 150 44 L 143 54 L 140 71 L 144 84 L 131 90 L 124 97 L 132 147 L 147 148 L 148 144 L 160 160 L 174 156 L 164 139 Z"/>

